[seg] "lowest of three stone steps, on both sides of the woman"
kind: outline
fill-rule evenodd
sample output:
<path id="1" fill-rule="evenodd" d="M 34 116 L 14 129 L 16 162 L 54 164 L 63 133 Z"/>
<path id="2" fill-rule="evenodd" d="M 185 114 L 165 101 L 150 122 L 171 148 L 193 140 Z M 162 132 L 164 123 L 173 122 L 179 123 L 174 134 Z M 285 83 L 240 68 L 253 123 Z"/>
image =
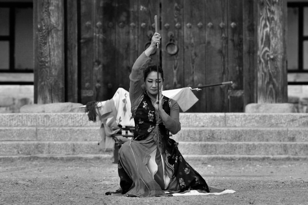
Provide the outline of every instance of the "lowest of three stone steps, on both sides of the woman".
<path id="1" fill-rule="evenodd" d="M 308 156 L 308 142 L 179 142 L 183 155 Z M 0 155 L 100 154 L 97 141 L 3 141 Z"/>

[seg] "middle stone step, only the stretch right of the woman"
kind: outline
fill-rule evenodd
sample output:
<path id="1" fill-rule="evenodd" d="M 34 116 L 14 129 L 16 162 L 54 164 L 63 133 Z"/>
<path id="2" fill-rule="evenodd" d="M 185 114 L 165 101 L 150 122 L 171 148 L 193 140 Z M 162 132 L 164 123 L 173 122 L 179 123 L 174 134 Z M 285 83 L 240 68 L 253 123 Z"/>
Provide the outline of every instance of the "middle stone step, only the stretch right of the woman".
<path id="1" fill-rule="evenodd" d="M 175 141 L 308 142 L 308 127 L 183 127 Z"/>

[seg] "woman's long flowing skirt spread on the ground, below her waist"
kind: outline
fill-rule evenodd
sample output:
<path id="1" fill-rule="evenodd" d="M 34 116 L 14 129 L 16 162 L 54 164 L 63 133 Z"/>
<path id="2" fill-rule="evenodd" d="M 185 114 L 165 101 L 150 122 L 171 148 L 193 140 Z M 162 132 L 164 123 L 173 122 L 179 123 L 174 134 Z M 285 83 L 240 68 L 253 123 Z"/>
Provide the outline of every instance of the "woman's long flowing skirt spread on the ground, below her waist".
<path id="1" fill-rule="evenodd" d="M 208 187 L 171 138 L 164 153 L 160 153 L 153 138 L 125 142 L 119 150 L 118 173 L 121 189 L 114 195 L 151 197 L 189 190 L 223 191 Z"/>

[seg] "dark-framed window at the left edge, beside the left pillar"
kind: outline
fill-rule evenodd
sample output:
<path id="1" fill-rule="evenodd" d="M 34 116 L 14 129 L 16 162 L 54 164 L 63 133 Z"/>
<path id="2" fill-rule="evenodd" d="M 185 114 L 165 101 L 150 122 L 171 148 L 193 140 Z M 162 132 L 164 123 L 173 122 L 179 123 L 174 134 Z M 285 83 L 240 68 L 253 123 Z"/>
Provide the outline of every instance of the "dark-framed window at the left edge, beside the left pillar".
<path id="1" fill-rule="evenodd" d="M 33 3 L 0 1 L 0 84 L 33 84 Z"/>

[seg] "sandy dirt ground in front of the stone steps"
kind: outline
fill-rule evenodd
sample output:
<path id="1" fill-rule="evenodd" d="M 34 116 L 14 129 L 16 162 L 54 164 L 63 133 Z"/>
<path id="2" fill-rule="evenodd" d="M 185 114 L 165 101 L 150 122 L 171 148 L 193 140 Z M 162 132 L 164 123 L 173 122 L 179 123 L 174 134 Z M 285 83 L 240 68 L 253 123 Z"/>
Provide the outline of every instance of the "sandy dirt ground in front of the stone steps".
<path id="1" fill-rule="evenodd" d="M 120 188 L 110 159 L 1 159 L 0 204 L 308 204 L 306 160 L 188 161 L 215 188 L 236 193 L 150 198 Z"/>

